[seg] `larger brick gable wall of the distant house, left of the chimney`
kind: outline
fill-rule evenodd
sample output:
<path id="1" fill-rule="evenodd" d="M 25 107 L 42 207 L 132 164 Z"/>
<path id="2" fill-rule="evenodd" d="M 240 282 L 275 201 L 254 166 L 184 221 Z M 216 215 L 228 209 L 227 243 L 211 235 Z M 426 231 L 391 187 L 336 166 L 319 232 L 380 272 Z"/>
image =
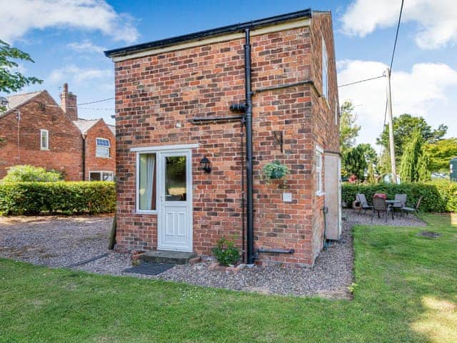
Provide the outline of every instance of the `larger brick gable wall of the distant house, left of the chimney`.
<path id="1" fill-rule="evenodd" d="M 19 110 L 20 149 L 16 111 L 0 118 L 0 136 L 4 138 L 0 142 L 0 178 L 9 166 L 31 164 L 64 172 L 69 181 L 81 180 L 81 133 L 48 92 L 41 92 Z M 49 131 L 49 150 L 41 150 L 40 129 Z"/>

